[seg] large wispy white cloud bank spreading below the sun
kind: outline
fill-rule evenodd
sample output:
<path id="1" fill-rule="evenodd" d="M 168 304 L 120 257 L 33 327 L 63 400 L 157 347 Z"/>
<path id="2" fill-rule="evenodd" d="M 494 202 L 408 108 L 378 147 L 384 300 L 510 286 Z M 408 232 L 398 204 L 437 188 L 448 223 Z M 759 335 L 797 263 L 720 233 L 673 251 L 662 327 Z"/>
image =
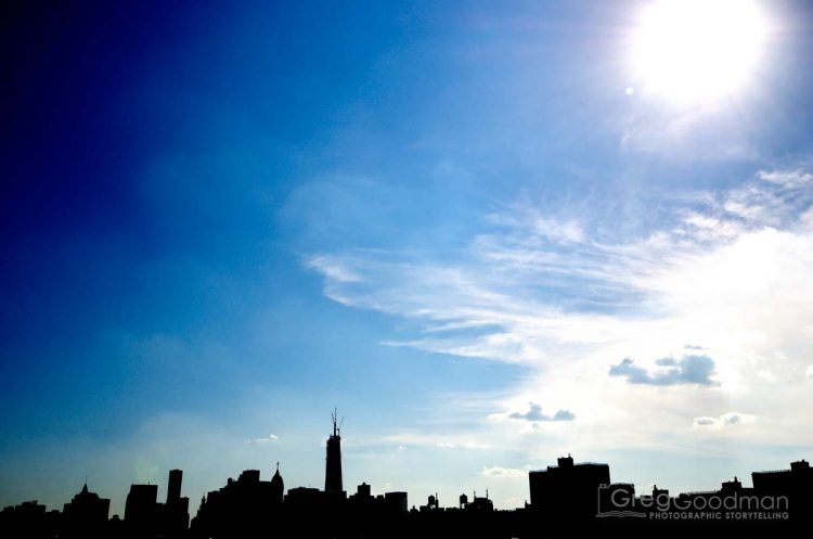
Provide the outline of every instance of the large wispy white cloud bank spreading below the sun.
<path id="1" fill-rule="evenodd" d="M 579 412 L 562 423 L 593 447 L 649 446 L 667 432 L 691 437 L 686 425 L 711 407 L 756 402 L 754 413 L 778 419 L 746 422 L 738 436 L 810 442 L 803 432 L 813 425 L 798 413 L 813 349 L 808 174 L 761 170 L 733 189 L 667 198 L 658 226 L 632 233 L 521 203 L 488 216 L 487 231 L 442 258 L 319 255 L 352 282 L 311 268 L 328 297 L 415 328 L 388 345 L 526 365 L 525 380 L 493 402 L 502 418 L 555 419 L 527 408 L 544 395 Z"/>

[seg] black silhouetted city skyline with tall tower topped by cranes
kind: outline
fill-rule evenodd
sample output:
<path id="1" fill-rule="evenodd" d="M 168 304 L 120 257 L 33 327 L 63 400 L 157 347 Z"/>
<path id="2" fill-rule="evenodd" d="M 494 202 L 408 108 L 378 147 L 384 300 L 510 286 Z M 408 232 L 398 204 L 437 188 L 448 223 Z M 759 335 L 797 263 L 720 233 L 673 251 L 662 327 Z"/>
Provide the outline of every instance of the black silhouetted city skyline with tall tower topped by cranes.
<path id="1" fill-rule="evenodd" d="M 752 486 L 736 476 L 715 490 L 675 492 L 654 485 L 636 492 L 630 483 L 612 482 L 608 464 L 576 462 L 568 454 L 555 465 L 528 472 L 530 502 L 495 510 L 485 496 L 466 492 L 444 505 L 437 492 L 426 504 L 410 504 L 409 492 L 373 495 L 366 483 L 354 493 L 341 488 L 340 426 L 325 442 L 325 487 L 285 490 L 280 463 L 270 480 L 245 470 L 224 487 L 207 492 L 192 514 L 182 497 L 183 472 L 170 470 L 165 502 L 158 486 L 131 484 L 124 515 L 109 515 L 109 499 L 82 486 L 63 511 L 48 511 L 36 500 L 0 512 L 4 537 L 253 537 L 273 523 L 279 534 L 307 537 L 556 537 L 571 530 L 659 532 L 721 530 L 765 534 L 802 529 L 813 523 L 813 469 L 805 460 L 788 470 L 753 472 Z M 454 500 L 453 500 L 454 501 Z"/>

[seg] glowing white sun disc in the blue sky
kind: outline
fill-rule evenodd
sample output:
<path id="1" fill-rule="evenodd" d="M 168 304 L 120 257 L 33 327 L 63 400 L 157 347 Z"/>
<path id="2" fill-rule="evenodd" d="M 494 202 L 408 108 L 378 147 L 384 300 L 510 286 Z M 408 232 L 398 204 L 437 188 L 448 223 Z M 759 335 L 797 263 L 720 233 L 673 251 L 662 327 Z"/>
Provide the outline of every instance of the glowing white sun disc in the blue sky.
<path id="1" fill-rule="evenodd" d="M 751 0 L 658 0 L 634 35 L 636 85 L 679 103 L 731 95 L 748 81 L 766 26 Z"/>

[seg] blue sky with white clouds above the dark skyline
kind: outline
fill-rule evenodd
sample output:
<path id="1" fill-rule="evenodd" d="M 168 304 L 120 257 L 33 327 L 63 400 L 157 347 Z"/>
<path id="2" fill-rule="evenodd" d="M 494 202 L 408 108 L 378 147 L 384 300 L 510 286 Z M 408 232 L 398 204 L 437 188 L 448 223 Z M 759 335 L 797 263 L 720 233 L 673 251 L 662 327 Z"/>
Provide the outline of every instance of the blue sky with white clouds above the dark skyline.
<path id="1" fill-rule="evenodd" d="M 0 505 L 320 486 L 334 406 L 411 503 L 810 458 L 813 17 L 754 5 L 686 99 L 653 2 L 4 8 Z"/>

